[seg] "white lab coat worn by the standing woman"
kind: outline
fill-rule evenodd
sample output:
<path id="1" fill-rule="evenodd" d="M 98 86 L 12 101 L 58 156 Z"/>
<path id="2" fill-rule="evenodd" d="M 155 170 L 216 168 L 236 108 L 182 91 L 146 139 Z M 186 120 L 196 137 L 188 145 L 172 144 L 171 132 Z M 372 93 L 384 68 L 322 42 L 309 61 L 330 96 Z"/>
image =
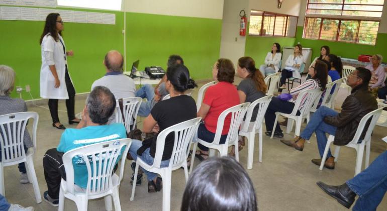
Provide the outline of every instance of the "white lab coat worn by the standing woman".
<path id="1" fill-rule="evenodd" d="M 64 41 L 59 35 L 59 39 Z M 55 88 L 55 79 L 51 73 L 51 70 L 46 62 L 44 52 L 50 51 L 53 52 L 54 63 L 56 68 L 56 73 L 60 81 L 60 86 Z M 49 34 L 45 35 L 42 40 L 42 66 L 40 68 L 40 97 L 48 99 L 68 99 L 65 73 L 66 73 L 66 53 L 63 52 L 63 46 L 60 41 L 56 42 L 52 36 Z M 67 59 L 67 57 L 66 57 Z"/>

